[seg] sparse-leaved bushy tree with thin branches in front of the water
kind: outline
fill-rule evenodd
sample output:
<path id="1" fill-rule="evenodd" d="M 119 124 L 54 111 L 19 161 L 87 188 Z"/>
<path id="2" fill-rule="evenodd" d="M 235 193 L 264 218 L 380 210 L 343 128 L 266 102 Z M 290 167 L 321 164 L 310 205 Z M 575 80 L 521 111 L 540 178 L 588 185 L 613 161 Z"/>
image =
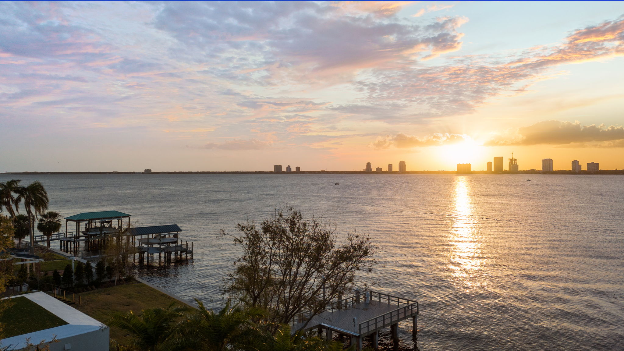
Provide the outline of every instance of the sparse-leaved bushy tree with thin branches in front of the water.
<path id="1" fill-rule="evenodd" d="M 236 228 L 242 234 L 231 236 L 243 252 L 225 292 L 265 310 L 273 331 L 304 311 L 319 314 L 353 289 L 359 270 L 377 263 L 378 247 L 368 235 L 351 233 L 338 244 L 333 225 L 318 217 L 304 220 L 293 209 L 276 210 L 259 226 L 248 221 Z"/>

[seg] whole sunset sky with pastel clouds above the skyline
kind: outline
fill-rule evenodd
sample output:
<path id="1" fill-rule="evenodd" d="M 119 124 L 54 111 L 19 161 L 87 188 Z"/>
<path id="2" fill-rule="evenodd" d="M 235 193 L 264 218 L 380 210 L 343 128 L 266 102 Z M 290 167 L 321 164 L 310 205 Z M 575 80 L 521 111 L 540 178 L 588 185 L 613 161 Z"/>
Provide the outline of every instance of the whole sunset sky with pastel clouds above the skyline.
<path id="1" fill-rule="evenodd" d="M 624 168 L 624 2 L 0 2 L 0 172 Z"/>

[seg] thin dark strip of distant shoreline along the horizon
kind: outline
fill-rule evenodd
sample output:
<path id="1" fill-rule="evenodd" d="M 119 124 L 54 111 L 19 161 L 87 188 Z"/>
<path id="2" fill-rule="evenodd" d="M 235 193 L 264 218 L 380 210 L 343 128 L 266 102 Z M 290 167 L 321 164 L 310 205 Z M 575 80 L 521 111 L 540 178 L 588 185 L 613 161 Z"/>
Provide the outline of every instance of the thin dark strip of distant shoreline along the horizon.
<path id="1" fill-rule="evenodd" d="M 366 171 L 301 171 L 301 172 L 281 172 L 275 173 L 272 171 L 181 171 L 181 172 L 4 172 L 0 174 L 10 174 L 10 175 L 42 175 L 42 174 L 56 174 L 56 175 L 67 175 L 67 174 L 280 174 L 280 175 L 296 175 L 296 174 L 460 174 L 457 171 L 407 171 L 407 172 L 366 172 Z M 534 169 L 527 171 L 518 171 L 517 173 L 510 172 L 502 172 L 502 173 L 494 173 L 489 171 L 472 171 L 470 173 L 461 173 L 461 174 L 570 174 L 570 175 L 624 175 L 624 170 L 622 169 L 614 169 L 614 170 L 601 170 L 595 173 L 589 173 L 587 171 L 581 171 L 580 173 L 573 173 L 572 171 L 552 171 L 552 172 L 541 172 L 536 171 Z"/>

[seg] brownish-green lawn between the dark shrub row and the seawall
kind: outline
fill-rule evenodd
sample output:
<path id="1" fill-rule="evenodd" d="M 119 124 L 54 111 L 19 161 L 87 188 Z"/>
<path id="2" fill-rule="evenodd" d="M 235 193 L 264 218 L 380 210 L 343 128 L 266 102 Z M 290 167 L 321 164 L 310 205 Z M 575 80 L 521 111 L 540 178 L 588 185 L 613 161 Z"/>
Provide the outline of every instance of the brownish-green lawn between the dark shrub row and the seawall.
<path id="1" fill-rule="evenodd" d="M 183 305 L 173 297 L 139 282 L 83 292 L 80 296 L 82 304 L 73 307 L 102 323 L 113 312 L 132 311 L 138 314 L 140 310 L 167 307 L 172 302 Z M 110 329 L 110 339 L 122 345 L 129 344 L 131 340 L 127 332 L 119 329 Z"/>

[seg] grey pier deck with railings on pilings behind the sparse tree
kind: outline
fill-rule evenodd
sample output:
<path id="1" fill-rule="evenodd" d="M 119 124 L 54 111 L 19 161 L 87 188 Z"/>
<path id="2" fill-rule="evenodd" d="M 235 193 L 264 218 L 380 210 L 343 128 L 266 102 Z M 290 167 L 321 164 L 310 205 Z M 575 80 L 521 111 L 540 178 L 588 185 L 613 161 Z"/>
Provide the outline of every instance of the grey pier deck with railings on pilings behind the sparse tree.
<path id="1" fill-rule="evenodd" d="M 390 327 L 392 346 L 399 347 L 399 322 L 412 319 L 412 337 L 416 344 L 418 302 L 381 292 L 358 292 L 354 296 L 333 302 L 327 309 L 310 318 L 300 314 L 292 320 L 293 333 L 318 330 L 331 340 L 333 333 L 351 338 L 356 351 L 363 349 L 364 337 L 371 336 L 373 349 L 379 347 L 379 331 Z"/>

